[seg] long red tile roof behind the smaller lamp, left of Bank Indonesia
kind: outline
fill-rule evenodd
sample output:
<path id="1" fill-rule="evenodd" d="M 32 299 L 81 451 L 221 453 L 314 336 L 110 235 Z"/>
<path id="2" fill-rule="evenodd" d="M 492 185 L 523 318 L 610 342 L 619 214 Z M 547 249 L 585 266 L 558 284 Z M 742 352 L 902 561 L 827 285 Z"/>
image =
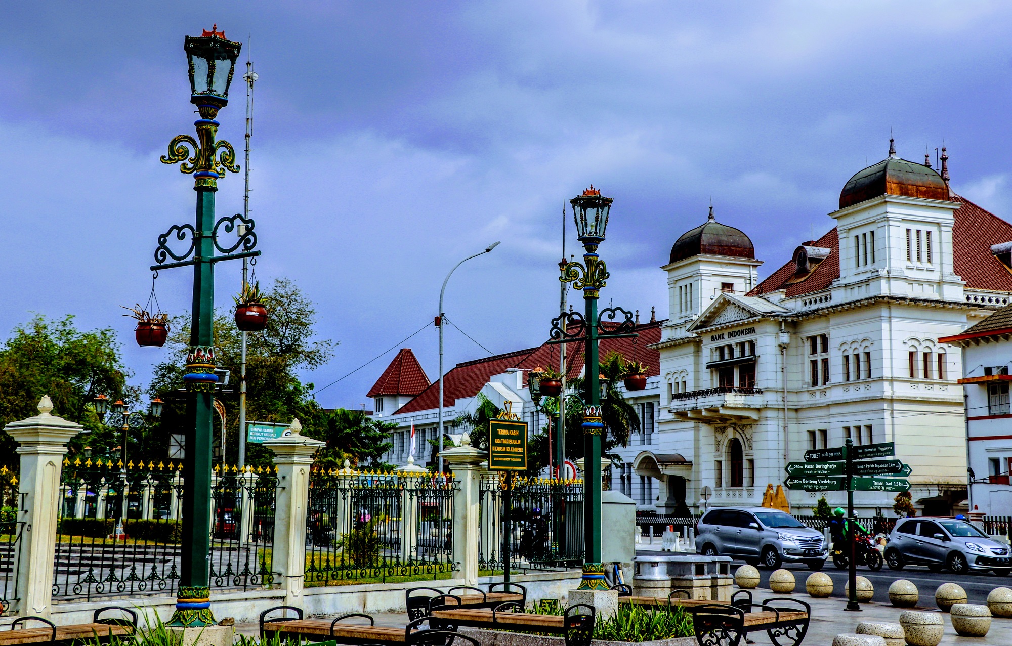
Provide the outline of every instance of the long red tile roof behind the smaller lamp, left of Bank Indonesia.
<path id="1" fill-rule="evenodd" d="M 660 375 L 660 353 L 656 348 L 650 348 L 648 345 L 660 342 L 662 323 L 663 321 L 656 321 L 637 326 L 637 332 L 640 336 L 635 339 L 635 351 L 634 339 L 631 338 L 602 340 L 599 346 L 600 355 L 603 357 L 611 350 L 620 352 L 626 358 L 632 358 L 635 355 L 648 367 L 648 377 Z M 571 379 L 578 377 L 583 368 L 583 341 L 566 344 L 566 373 L 567 377 Z M 539 366 L 551 366 L 559 369 L 559 345 L 542 343 L 537 347 L 457 364 L 443 378 L 443 406 L 452 406 L 457 399 L 474 397 L 493 375 L 501 375 L 508 368 L 530 371 Z M 526 380 L 524 385 L 526 385 Z M 438 407 L 439 382 L 436 380 L 424 392 L 399 408 L 395 414 L 415 413 Z"/>

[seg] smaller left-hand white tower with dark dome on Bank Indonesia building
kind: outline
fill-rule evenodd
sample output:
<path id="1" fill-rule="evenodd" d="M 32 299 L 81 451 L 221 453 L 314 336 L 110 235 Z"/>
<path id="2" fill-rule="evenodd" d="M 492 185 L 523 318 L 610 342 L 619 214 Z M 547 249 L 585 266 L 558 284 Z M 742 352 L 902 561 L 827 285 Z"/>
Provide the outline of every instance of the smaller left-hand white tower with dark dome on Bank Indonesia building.
<path id="1" fill-rule="evenodd" d="M 756 286 L 755 247 L 745 233 L 723 225 L 709 208 L 706 222 L 687 231 L 671 247 L 668 264 L 668 320 L 684 329 L 721 292 L 744 295 Z"/>

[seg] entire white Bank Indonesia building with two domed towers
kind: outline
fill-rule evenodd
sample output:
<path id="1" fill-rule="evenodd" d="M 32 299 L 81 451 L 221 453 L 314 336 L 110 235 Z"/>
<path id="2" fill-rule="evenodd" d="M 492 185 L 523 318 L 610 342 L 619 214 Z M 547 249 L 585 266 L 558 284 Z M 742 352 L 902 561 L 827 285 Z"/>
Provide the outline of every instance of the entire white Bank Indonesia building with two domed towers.
<path id="1" fill-rule="evenodd" d="M 1009 302 L 1012 275 L 990 245 L 1012 240 L 1012 226 L 892 145 L 830 216 L 833 230 L 762 281 L 751 241 L 712 213 L 672 248 L 657 455 L 634 464 L 677 494 L 662 499 L 684 491 L 698 508 L 708 485 L 710 505 L 759 504 L 787 462 L 849 437 L 896 443 L 924 513 L 964 508 L 962 364 L 938 338 Z M 789 501 L 806 508 L 820 495 Z M 894 496 L 855 497 L 865 512 L 891 513 Z"/>

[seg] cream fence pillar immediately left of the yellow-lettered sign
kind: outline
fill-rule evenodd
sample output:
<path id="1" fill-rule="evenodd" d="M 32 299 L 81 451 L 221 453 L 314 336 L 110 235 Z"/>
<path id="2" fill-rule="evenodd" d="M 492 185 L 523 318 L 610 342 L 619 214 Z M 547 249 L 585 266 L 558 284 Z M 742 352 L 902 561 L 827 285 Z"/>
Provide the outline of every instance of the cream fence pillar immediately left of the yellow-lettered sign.
<path id="1" fill-rule="evenodd" d="M 488 458 L 488 454 L 472 447 L 470 435 L 465 433 L 459 447 L 443 451 L 440 455 L 456 482 L 456 491 L 453 492 L 453 561 L 460 568 L 465 585 L 477 585 L 481 545 L 478 487 L 482 468 L 479 465 Z"/>

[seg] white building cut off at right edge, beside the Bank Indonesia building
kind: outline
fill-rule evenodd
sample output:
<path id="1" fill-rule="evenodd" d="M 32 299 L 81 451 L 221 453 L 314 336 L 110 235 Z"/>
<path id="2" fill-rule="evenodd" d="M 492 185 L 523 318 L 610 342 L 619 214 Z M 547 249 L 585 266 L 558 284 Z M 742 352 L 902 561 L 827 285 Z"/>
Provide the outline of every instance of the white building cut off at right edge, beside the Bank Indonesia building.
<path id="1" fill-rule="evenodd" d="M 1007 251 L 1003 261 L 1008 262 Z M 999 253 L 999 258 L 1002 258 Z M 1012 305 L 969 329 L 939 339 L 962 347 L 966 393 L 966 447 L 972 480 L 969 507 L 988 515 L 1012 513 Z"/>

